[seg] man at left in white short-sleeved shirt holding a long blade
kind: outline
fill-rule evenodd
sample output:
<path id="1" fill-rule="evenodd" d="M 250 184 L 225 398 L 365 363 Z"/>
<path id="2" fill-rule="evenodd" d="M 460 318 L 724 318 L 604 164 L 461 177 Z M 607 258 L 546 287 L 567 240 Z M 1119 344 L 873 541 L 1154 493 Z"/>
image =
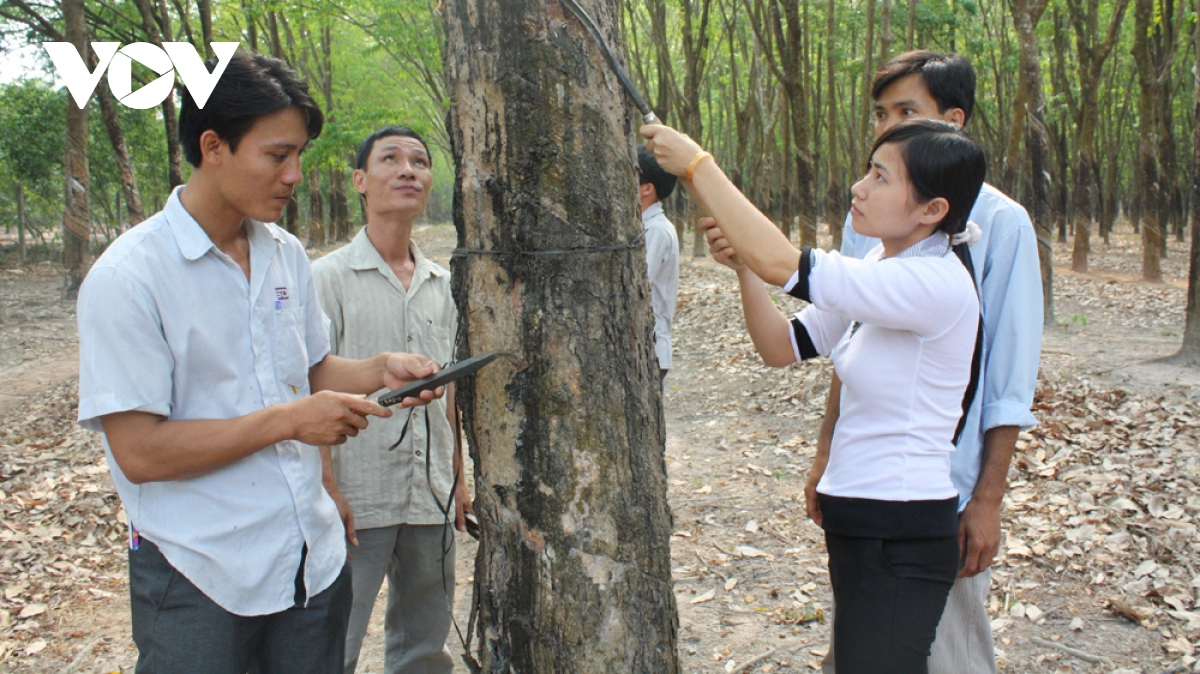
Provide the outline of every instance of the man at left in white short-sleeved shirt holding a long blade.
<path id="1" fill-rule="evenodd" d="M 352 393 L 437 366 L 329 354 L 304 247 L 270 224 L 322 124 L 286 64 L 235 54 L 203 109 L 182 95 L 187 183 L 80 288 L 79 422 L 130 517 L 138 672 L 341 672 L 350 579 L 316 445 L 391 415 Z"/>

